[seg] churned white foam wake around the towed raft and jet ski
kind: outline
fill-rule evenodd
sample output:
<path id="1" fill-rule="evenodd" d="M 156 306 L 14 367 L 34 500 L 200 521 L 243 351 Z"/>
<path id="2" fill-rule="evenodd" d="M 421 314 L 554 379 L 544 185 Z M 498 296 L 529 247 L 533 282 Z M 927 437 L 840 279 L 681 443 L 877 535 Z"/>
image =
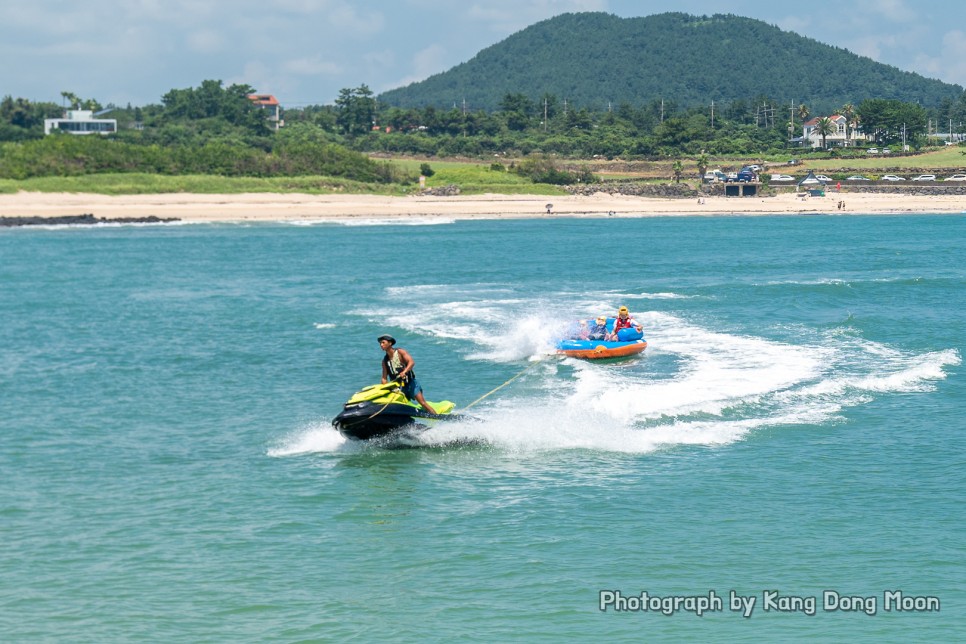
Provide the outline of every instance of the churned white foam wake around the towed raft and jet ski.
<path id="1" fill-rule="evenodd" d="M 521 300 L 500 284 L 389 287 L 386 293 L 385 308 L 366 315 L 468 347 L 467 359 L 516 362 L 527 372 L 469 411 L 478 422 L 439 423 L 419 434 L 415 440 L 426 445 L 478 441 L 522 452 L 631 453 L 724 445 L 762 427 L 836 422 L 848 408 L 883 394 L 931 390 L 946 367 L 961 362 L 955 349 L 916 353 L 852 329 L 770 329 L 783 338 L 776 340 L 653 311 L 635 315 L 649 342 L 636 359 L 549 360 L 575 318 L 626 300 L 600 293 Z M 400 307 L 398 300 L 415 304 Z M 338 434 L 326 431 L 328 438 L 306 436 L 304 445 L 296 441 L 290 449 L 344 449 Z"/>

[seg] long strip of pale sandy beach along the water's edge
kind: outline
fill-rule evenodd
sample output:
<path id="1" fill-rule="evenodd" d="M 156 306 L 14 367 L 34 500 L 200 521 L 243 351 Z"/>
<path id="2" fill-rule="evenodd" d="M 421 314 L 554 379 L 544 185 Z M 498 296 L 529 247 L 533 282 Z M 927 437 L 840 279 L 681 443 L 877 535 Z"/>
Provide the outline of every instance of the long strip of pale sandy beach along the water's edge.
<path id="1" fill-rule="evenodd" d="M 844 202 L 844 209 L 838 207 Z M 547 205 L 551 204 L 548 214 Z M 177 218 L 187 222 L 315 221 L 370 218 L 522 219 L 664 215 L 964 213 L 966 196 L 829 192 L 825 197 L 660 199 L 592 196 L 474 195 L 455 197 L 249 193 L 107 196 L 18 192 L 0 195 L 0 217 L 93 214 Z"/>

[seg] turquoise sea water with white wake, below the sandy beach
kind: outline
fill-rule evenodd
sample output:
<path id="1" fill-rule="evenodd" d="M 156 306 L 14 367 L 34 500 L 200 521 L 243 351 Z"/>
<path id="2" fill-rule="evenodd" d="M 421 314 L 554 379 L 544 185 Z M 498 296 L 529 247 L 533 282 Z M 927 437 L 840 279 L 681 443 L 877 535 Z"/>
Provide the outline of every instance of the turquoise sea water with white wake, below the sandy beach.
<path id="1" fill-rule="evenodd" d="M 963 641 L 964 239 L 961 215 L 0 231 L 0 639 Z M 621 304 L 643 355 L 552 354 Z M 474 419 L 335 432 L 382 333 Z"/>

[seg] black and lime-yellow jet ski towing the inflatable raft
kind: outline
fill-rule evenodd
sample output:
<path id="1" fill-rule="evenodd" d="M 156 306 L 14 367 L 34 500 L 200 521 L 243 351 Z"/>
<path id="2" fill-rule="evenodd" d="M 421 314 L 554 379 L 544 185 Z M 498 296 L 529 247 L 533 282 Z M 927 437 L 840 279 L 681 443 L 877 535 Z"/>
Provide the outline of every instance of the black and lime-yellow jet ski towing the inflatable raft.
<path id="1" fill-rule="evenodd" d="M 370 385 L 354 393 L 332 425 L 346 438 L 369 440 L 407 429 L 423 430 L 439 420 L 459 420 L 456 404 L 443 400 L 429 401 L 437 413 L 431 414 L 400 391 L 399 383 Z"/>

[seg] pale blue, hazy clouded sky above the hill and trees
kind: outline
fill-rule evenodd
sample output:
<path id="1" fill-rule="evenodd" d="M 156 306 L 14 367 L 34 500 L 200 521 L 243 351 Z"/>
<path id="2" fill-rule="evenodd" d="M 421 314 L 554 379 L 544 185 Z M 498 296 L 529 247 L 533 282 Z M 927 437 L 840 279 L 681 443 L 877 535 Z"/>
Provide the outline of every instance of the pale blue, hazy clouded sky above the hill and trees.
<path id="1" fill-rule="evenodd" d="M 423 80 L 567 12 L 733 13 L 966 87 L 963 0 L 0 0 L 0 97 L 161 102 L 203 80 L 283 107 Z M 928 8 L 927 8 L 928 7 Z M 580 43 L 574 43 L 579 47 Z M 749 52 L 735 51 L 735 56 Z M 754 55 L 753 52 L 750 55 Z"/>

